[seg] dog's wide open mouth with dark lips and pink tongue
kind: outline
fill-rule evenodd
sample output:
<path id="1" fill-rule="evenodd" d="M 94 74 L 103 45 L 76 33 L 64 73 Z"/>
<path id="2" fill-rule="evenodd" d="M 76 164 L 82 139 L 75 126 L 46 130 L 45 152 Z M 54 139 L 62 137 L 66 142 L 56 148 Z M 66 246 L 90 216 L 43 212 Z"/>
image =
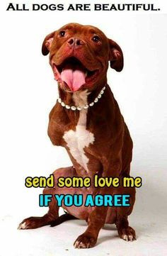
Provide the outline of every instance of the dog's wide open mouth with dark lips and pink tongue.
<path id="1" fill-rule="evenodd" d="M 76 57 L 68 57 L 61 65 L 53 63 L 52 69 L 55 79 L 60 84 L 66 83 L 71 91 L 78 91 L 84 84 L 93 84 L 99 74 L 99 69 L 87 69 Z"/>

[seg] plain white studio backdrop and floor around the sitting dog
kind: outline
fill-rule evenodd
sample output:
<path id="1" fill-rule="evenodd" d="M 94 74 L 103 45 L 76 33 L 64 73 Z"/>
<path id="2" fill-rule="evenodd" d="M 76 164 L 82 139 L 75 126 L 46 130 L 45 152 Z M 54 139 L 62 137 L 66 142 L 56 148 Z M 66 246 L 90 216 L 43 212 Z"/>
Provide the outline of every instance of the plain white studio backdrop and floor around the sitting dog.
<path id="1" fill-rule="evenodd" d="M 89 252 L 166 255 L 166 14 L 163 10 L 159 13 L 6 12 L 6 6 L 7 3 L 1 7 L 0 165 L 4 248 L 0 249 L 0 255 L 77 255 L 72 243 L 86 228 L 84 222 L 71 221 L 52 229 L 16 230 L 23 218 L 46 212 L 38 206 L 42 189 L 25 188 L 25 177 L 47 177 L 54 169 L 71 165 L 67 152 L 55 148 L 47 137 L 48 115 L 57 100 L 57 84 L 48 57 L 41 54 L 45 35 L 69 22 L 97 26 L 124 52 L 125 68 L 120 73 L 108 69 L 108 84 L 134 141 L 131 174 L 143 180 L 130 217 L 137 241 L 128 244 L 119 240 L 116 231 L 107 226 L 100 233 L 98 245 Z M 86 250 L 79 253 L 88 255 Z"/>

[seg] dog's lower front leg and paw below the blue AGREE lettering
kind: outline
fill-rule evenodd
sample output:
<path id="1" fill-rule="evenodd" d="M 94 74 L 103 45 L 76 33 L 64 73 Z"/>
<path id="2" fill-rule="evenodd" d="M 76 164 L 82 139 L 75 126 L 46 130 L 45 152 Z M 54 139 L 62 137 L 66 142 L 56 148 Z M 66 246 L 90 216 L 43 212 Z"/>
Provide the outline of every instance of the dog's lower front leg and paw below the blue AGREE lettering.
<path id="1" fill-rule="evenodd" d="M 98 233 L 105 224 L 107 207 L 95 207 L 88 216 L 88 228 L 74 242 L 75 248 L 89 248 L 96 245 Z"/>

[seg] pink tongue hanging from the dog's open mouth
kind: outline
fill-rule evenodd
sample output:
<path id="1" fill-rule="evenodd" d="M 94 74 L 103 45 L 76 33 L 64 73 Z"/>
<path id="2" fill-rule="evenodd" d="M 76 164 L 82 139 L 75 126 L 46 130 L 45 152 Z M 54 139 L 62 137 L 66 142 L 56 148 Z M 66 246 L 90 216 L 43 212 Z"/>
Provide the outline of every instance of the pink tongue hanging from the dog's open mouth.
<path id="1" fill-rule="evenodd" d="M 65 68 L 61 73 L 61 78 L 67 83 L 71 91 L 77 91 L 85 84 L 85 73 L 80 69 Z"/>

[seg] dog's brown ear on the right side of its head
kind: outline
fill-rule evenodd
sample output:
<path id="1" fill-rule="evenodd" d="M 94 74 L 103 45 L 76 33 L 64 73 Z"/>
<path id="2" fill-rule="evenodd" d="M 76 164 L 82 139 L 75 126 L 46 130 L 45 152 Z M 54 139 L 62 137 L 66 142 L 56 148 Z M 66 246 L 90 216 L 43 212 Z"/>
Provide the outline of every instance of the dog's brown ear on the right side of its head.
<path id="1" fill-rule="evenodd" d="M 109 43 L 109 61 L 110 61 L 110 67 L 115 69 L 117 72 L 120 72 L 124 66 L 124 57 L 122 50 L 115 41 L 108 39 Z"/>

